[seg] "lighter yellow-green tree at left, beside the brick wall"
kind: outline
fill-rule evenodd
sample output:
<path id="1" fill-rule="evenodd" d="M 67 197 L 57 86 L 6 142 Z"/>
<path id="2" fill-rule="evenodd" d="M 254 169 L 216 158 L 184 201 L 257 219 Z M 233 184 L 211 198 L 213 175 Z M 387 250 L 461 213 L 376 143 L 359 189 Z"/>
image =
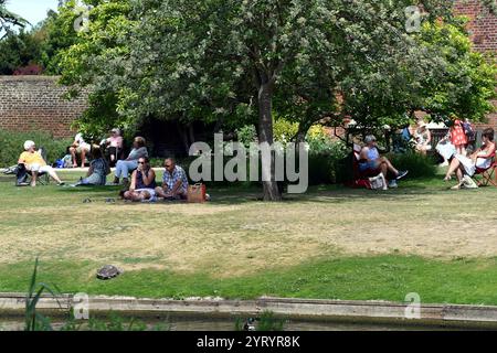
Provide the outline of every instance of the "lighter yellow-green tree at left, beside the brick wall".
<path id="1" fill-rule="evenodd" d="M 119 97 L 126 97 L 123 92 L 129 92 L 133 83 L 126 74 L 133 73 L 126 69 L 129 67 L 129 36 L 136 23 L 130 13 L 131 3 L 92 0 L 85 4 L 91 6 L 85 9 L 87 28 L 80 31 L 74 29 L 82 10 L 77 2 L 68 0 L 59 8 L 54 30 L 68 31 L 75 39 L 73 45 L 57 52 L 52 67 L 62 74 L 61 84 L 72 88 L 70 97 L 80 94 L 82 88 L 88 93 L 89 107 L 77 121 L 80 129 L 95 136 L 116 126 L 125 131 L 134 130 L 141 115 L 119 109 Z"/>

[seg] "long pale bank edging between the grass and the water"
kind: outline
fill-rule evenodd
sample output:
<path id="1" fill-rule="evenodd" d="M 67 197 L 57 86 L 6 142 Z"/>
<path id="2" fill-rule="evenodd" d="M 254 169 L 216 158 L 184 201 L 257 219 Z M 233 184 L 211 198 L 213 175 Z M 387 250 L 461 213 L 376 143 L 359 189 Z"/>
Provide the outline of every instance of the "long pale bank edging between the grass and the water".
<path id="1" fill-rule="evenodd" d="M 192 318 L 230 319 L 257 317 L 272 311 L 276 317 L 303 321 L 351 323 L 391 323 L 393 325 L 422 325 L 497 329 L 497 307 L 462 304 L 421 304 L 419 317 L 406 319 L 409 303 L 387 301 L 342 301 L 319 299 L 287 299 L 263 297 L 256 300 L 225 300 L 221 298 L 139 299 L 133 297 L 94 296 L 88 298 L 91 315 L 110 311 L 129 317 L 181 315 Z M 56 298 L 44 296 L 38 304 L 41 312 L 63 314 L 78 301 L 72 295 Z M 0 293 L 0 317 L 22 315 L 25 295 Z"/>

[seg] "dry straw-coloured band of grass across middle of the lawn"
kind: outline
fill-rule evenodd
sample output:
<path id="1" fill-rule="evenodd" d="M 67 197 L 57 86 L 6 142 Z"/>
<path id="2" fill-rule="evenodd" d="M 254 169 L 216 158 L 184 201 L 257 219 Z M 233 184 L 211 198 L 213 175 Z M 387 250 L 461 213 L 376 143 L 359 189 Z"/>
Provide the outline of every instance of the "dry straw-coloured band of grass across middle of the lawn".
<path id="1" fill-rule="evenodd" d="M 214 277 L 315 257 L 403 254 L 497 256 L 497 214 L 474 193 L 316 200 L 279 204 L 61 204 L 0 210 L 0 263 L 92 260 Z"/>

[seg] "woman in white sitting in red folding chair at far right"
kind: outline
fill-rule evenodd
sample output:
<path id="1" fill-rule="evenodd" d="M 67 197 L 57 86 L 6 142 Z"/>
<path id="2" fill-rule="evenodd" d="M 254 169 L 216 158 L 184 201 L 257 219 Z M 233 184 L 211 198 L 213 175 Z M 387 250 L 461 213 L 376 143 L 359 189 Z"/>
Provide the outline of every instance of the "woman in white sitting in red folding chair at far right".
<path id="1" fill-rule="evenodd" d="M 494 135 L 494 129 L 485 129 L 482 135 L 482 148 L 477 149 L 470 157 L 461 153 L 454 156 L 444 179 L 445 181 L 450 181 L 452 174 L 456 173 L 458 184 L 452 189 L 458 190 L 463 188 L 463 185 L 475 188 L 475 183 L 470 178 L 475 174 L 476 169 L 485 170 L 490 168 L 496 151 Z"/>

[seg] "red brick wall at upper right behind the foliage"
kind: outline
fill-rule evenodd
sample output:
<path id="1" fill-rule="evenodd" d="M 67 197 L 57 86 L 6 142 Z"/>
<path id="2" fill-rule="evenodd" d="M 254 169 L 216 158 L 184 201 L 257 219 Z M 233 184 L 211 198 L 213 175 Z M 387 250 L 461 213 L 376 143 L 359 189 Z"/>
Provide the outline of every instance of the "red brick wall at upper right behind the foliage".
<path id="1" fill-rule="evenodd" d="M 456 14 L 470 19 L 468 31 L 472 35 L 474 49 L 482 53 L 497 52 L 497 15 L 490 14 L 479 1 L 458 0 L 454 9 Z M 497 100 L 493 101 L 497 107 Z M 479 124 L 478 129 L 493 127 L 497 130 L 497 114 L 488 115 L 487 124 Z"/>

